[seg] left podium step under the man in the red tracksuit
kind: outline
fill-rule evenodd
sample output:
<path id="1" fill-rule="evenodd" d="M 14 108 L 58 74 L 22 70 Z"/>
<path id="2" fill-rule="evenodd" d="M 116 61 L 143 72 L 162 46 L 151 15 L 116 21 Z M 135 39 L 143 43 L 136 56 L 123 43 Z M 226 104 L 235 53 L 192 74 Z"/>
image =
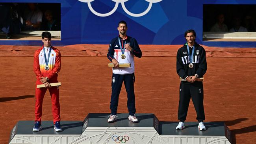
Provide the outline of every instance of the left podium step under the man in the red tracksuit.
<path id="1" fill-rule="evenodd" d="M 82 133 L 82 121 L 61 121 L 56 132 L 52 121 L 42 121 L 41 131 L 32 131 L 35 121 L 19 121 L 12 129 L 9 144 L 71 144 Z"/>

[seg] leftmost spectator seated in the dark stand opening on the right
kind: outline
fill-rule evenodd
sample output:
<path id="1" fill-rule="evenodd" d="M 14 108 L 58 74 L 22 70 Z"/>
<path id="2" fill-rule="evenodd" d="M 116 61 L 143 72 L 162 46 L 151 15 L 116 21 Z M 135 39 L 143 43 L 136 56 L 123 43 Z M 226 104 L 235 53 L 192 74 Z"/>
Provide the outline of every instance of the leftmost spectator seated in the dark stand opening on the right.
<path id="1" fill-rule="evenodd" d="M 226 32 L 228 31 L 228 27 L 224 22 L 224 15 L 221 13 L 217 16 L 217 22 L 211 27 L 212 32 Z"/>

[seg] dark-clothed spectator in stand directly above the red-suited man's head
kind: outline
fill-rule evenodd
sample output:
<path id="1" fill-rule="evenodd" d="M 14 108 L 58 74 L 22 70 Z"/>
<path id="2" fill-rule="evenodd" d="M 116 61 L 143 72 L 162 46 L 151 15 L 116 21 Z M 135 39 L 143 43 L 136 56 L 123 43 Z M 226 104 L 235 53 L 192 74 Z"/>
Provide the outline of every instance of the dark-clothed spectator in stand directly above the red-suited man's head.
<path id="1" fill-rule="evenodd" d="M 45 19 L 46 21 L 42 23 L 41 30 L 46 31 L 59 31 L 60 23 L 53 18 L 52 11 L 45 11 Z"/>

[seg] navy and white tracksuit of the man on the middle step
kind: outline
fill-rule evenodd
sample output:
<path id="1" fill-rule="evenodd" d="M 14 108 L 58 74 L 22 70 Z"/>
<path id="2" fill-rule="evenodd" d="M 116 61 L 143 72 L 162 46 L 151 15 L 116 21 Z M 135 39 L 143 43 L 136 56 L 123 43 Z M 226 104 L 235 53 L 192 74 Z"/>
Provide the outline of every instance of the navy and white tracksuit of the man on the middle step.
<path id="1" fill-rule="evenodd" d="M 121 45 L 119 44 L 119 40 L 121 40 Z M 124 47 L 124 44 L 129 44 L 133 50 L 130 52 L 125 49 L 124 55 L 126 56 L 125 59 L 121 58 L 122 52 L 120 47 Z M 139 48 L 139 45 L 137 41 L 127 36 L 125 39 L 122 39 L 121 37 L 116 37 L 111 40 L 109 44 L 109 50 L 108 50 L 108 59 L 112 61 L 112 59 L 116 59 L 119 63 L 130 63 L 131 67 L 129 68 L 115 68 L 113 67 L 113 76 L 112 76 L 112 94 L 111 94 L 111 101 L 110 101 L 110 109 L 111 114 L 116 115 L 117 114 L 117 106 L 118 106 L 118 99 L 119 94 L 122 88 L 122 82 L 124 81 L 125 89 L 127 92 L 127 107 L 129 111 L 129 115 L 134 116 L 136 109 L 135 109 L 135 94 L 134 94 L 134 82 L 135 82 L 135 76 L 134 76 L 134 55 L 136 57 L 141 57 L 142 53 Z"/>

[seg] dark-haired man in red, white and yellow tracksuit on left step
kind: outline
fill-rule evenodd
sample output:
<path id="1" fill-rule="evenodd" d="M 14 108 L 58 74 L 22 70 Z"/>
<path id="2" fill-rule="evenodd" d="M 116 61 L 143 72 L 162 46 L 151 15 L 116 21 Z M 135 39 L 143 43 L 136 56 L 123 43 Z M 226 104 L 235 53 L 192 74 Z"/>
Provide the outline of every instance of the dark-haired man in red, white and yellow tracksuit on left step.
<path id="1" fill-rule="evenodd" d="M 37 77 L 36 85 L 44 84 L 46 88 L 35 88 L 35 127 L 33 131 L 39 131 L 41 129 L 42 104 L 47 89 L 49 89 L 52 99 L 54 128 L 55 130 L 57 129 L 56 131 L 61 131 L 59 124 L 61 120 L 59 87 L 50 87 L 49 84 L 58 82 L 58 72 L 61 68 L 61 54 L 57 48 L 50 45 L 51 34 L 48 31 L 42 33 L 42 41 L 44 45 L 35 51 L 33 66 Z"/>

